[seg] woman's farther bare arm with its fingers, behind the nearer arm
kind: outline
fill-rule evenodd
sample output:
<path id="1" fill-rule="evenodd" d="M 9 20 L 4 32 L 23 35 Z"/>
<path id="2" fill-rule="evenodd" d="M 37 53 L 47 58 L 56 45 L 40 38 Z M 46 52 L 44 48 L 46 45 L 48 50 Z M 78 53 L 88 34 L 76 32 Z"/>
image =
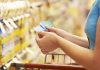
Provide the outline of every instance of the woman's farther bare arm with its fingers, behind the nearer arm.
<path id="1" fill-rule="evenodd" d="M 64 30 L 61 30 L 61 29 L 58 29 L 58 28 L 47 28 L 50 32 L 54 32 L 56 33 L 57 35 L 59 35 L 60 37 L 68 40 L 68 41 L 71 41 L 79 46 L 82 46 L 82 47 L 88 47 L 89 43 L 88 43 L 88 40 L 87 39 L 84 39 L 82 37 L 79 37 L 79 36 L 76 36 L 76 35 L 72 35 Z"/>

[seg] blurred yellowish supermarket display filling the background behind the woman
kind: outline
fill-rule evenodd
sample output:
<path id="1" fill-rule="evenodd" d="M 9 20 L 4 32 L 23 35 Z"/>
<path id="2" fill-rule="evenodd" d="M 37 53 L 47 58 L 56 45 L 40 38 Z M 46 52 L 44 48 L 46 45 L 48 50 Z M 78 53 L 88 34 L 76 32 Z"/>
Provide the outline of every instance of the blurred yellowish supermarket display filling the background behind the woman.
<path id="1" fill-rule="evenodd" d="M 11 63 L 44 64 L 45 57 L 49 64 L 74 62 L 59 48 L 42 54 L 34 31 L 44 31 L 47 26 L 84 36 L 90 3 L 93 0 L 0 0 L 0 67 L 6 70 Z"/>

